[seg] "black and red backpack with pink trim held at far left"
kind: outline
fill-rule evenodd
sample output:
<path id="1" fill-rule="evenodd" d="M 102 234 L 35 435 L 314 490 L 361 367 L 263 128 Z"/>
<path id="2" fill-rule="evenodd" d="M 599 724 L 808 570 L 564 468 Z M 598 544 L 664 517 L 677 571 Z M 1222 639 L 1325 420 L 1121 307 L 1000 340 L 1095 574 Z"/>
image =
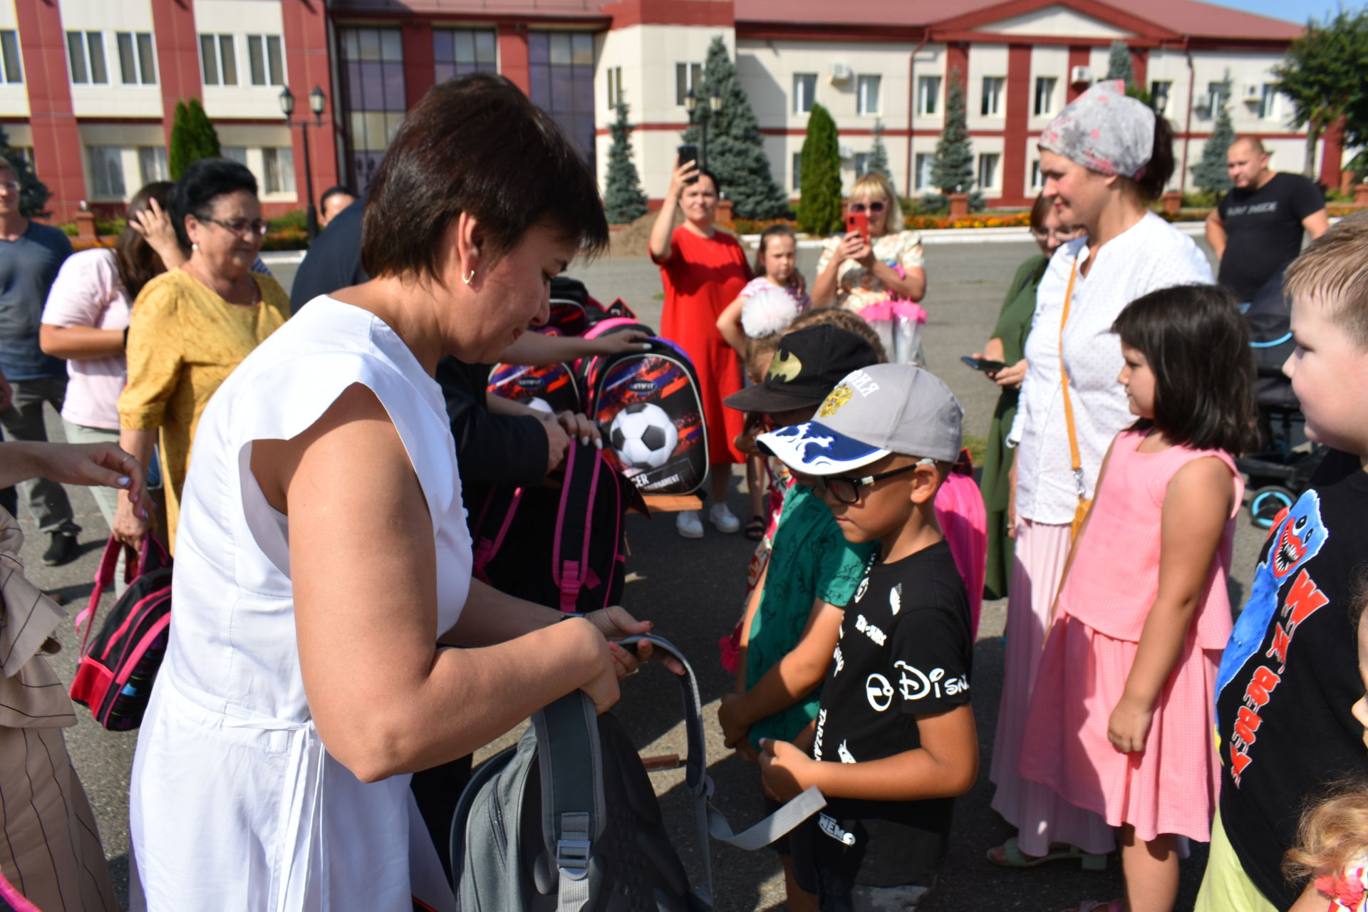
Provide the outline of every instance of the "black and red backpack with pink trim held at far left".
<path id="1" fill-rule="evenodd" d="M 171 625 L 171 555 L 149 535 L 137 558 L 137 576 L 109 610 L 94 637 L 100 596 L 114 585 L 114 567 L 123 546 L 111 537 L 94 576 L 90 604 L 77 615 L 81 660 L 71 681 L 71 699 L 90 708 L 94 721 L 111 732 L 127 732 L 142 725 L 152 696 L 152 682 L 166 655 Z M 129 548 L 129 572 L 134 566 Z"/>

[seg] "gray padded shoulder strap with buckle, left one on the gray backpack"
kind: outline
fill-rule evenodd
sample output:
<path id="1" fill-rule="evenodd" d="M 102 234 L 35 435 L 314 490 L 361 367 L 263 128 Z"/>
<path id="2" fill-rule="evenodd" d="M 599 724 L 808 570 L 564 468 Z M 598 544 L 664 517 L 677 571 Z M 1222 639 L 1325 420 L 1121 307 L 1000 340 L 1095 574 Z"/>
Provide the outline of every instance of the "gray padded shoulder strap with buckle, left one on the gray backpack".
<path id="1" fill-rule="evenodd" d="M 568 693 L 532 716 L 542 777 L 542 838 L 558 874 L 557 912 L 580 912 L 596 876 L 590 861 L 603 833 L 603 757 L 598 714 L 583 690 Z M 554 749 L 551 745 L 554 744 Z"/>

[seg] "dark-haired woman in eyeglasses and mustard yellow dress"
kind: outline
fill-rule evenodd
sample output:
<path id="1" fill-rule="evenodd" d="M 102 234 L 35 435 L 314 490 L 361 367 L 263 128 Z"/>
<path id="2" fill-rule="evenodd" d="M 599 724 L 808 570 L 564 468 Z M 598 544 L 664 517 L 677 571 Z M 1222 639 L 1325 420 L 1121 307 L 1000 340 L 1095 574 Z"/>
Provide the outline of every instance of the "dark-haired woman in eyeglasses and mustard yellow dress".
<path id="1" fill-rule="evenodd" d="M 267 224 L 246 167 L 200 159 L 176 182 L 170 205 L 190 258 L 144 286 L 133 305 L 119 446 L 146 464 L 160 440 L 166 539 L 174 550 L 200 413 L 242 358 L 280 328 L 290 298 L 275 279 L 250 271 Z M 149 529 L 120 495 L 114 533 L 141 547 Z"/>

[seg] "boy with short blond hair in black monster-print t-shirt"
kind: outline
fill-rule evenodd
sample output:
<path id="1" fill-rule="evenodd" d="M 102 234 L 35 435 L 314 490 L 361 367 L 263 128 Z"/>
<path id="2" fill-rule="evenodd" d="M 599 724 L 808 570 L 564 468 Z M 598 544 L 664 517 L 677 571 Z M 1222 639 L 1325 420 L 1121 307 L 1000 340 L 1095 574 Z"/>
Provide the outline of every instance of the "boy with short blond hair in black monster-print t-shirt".
<path id="1" fill-rule="evenodd" d="M 1368 773 L 1350 613 L 1368 567 L 1368 216 L 1330 228 L 1289 268 L 1297 349 L 1283 372 L 1306 436 L 1358 469 L 1308 489 L 1275 522 L 1216 674 L 1222 788 L 1198 912 L 1286 909 L 1283 853 L 1304 803 Z"/>

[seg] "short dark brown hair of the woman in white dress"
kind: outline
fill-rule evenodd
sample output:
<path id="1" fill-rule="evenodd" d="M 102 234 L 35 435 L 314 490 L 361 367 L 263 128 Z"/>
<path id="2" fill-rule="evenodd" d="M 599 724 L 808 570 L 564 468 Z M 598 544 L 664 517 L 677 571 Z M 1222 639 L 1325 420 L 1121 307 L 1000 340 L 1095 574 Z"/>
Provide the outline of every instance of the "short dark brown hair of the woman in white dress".
<path id="1" fill-rule="evenodd" d="M 438 276 L 442 234 L 468 212 L 490 263 L 534 224 L 588 253 L 607 246 L 598 182 L 561 127 L 505 77 L 434 86 L 409 111 L 367 190 L 361 265 L 372 276 Z"/>

